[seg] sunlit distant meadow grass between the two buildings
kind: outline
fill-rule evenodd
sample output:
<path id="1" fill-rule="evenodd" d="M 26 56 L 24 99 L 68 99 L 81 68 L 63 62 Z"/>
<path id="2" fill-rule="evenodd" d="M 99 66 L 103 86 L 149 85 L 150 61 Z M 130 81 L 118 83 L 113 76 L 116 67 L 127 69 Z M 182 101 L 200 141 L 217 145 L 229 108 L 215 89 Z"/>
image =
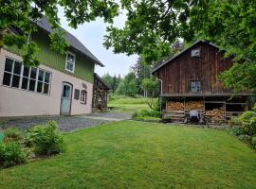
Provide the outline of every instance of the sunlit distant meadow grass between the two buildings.
<path id="1" fill-rule="evenodd" d="M 141 110 L 149 110 L 146 100 L 147 98 L 145 97 L 132 98 L 128 96 L 114 95 L 111 97 L 108 106 L 115 107 L 116 110 L 114 110 L 114 112 L 133 113 Z"/>

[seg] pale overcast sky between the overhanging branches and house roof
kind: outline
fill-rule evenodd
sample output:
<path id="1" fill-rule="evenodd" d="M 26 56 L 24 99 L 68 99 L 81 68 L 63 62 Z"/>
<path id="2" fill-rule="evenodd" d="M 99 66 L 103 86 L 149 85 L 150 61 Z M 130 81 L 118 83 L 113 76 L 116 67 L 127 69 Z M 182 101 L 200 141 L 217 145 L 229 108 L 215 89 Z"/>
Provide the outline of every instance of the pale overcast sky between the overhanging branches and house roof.
<path id="1" fill-rule="evenodd" d="M 105 65 L 102 68 L 100 66 L 96 67 L 96 72 L 100 76 L 106 73 L 112 76 L 115 74 L 124 76 L 128 73 L 130 66 L 136 63 L 137 55 L 128 57 L 125 54 L 114 54 L 112 50 L 106 50 L 103 47 L 106 24 L 103 23 L 102 19 L 85 23 L 77 29 L 73 29 L 67 25 L 63 9 L 59 9 L 59 16 L 64 29 L 76 36 Z M 125 15 L 120 15 L 115 19 L 115 26 L 123 26 L 124 21 Z"/>

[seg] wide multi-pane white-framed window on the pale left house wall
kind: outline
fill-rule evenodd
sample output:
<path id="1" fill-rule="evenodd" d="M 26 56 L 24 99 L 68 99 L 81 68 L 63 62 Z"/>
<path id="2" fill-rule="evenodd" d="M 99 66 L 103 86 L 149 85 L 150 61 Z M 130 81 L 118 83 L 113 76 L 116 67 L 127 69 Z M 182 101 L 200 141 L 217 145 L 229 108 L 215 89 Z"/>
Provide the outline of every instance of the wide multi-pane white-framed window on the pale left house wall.
<path id="1" fill-rule="evenodd" d="M 49 72 L 28 67 L 20 61 L 6 58 L 3 85 L 40 94 L 49 94 L 49 81 Z"/>

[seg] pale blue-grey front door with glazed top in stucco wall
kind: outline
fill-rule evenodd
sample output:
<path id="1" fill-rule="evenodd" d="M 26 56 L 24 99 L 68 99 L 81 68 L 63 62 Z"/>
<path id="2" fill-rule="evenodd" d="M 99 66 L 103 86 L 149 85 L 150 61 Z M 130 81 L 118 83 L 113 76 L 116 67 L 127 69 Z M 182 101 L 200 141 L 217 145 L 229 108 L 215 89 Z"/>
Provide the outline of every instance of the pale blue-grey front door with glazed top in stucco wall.
<path id="1" fill-rule="evenodd" d="M 63 82 L 62 102 L 61 102 L 61 114 L 69 115 L 71 108 L 72 97 L 72 85 Z"/>

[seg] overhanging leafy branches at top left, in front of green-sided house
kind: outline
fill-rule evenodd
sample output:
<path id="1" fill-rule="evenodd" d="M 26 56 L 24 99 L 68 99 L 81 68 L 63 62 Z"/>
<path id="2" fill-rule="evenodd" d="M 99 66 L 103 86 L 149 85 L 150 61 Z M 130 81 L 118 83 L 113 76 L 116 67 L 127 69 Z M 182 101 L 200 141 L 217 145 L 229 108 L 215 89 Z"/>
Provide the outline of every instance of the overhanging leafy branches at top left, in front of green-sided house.
<path id="1" fill-rule="evenodd" d="M 39 65 L 36 55 L 40 49 L 31 41 L 31 35 L 37 31 L 34 23 L 39 21 L 44 13 L 54 31 L 49 34 L 51 48 L 64 54 L 68 43 L 64 39 L 65 31 L 60 28 L 58 6 L 63 7 L 69 26 L 74 28 L 82 23 L 93 21 L 97 17 L 112 23 L 113 18 L 119 14 L 119 6 L 114 0 L 1 0 L 0 32 L 4 34 L 1 45 L 17 46 L 24 52 L 25 64 Z M 19 34 L 11 35 L 5 32 L 9 27 L 16 28 Z"/>

